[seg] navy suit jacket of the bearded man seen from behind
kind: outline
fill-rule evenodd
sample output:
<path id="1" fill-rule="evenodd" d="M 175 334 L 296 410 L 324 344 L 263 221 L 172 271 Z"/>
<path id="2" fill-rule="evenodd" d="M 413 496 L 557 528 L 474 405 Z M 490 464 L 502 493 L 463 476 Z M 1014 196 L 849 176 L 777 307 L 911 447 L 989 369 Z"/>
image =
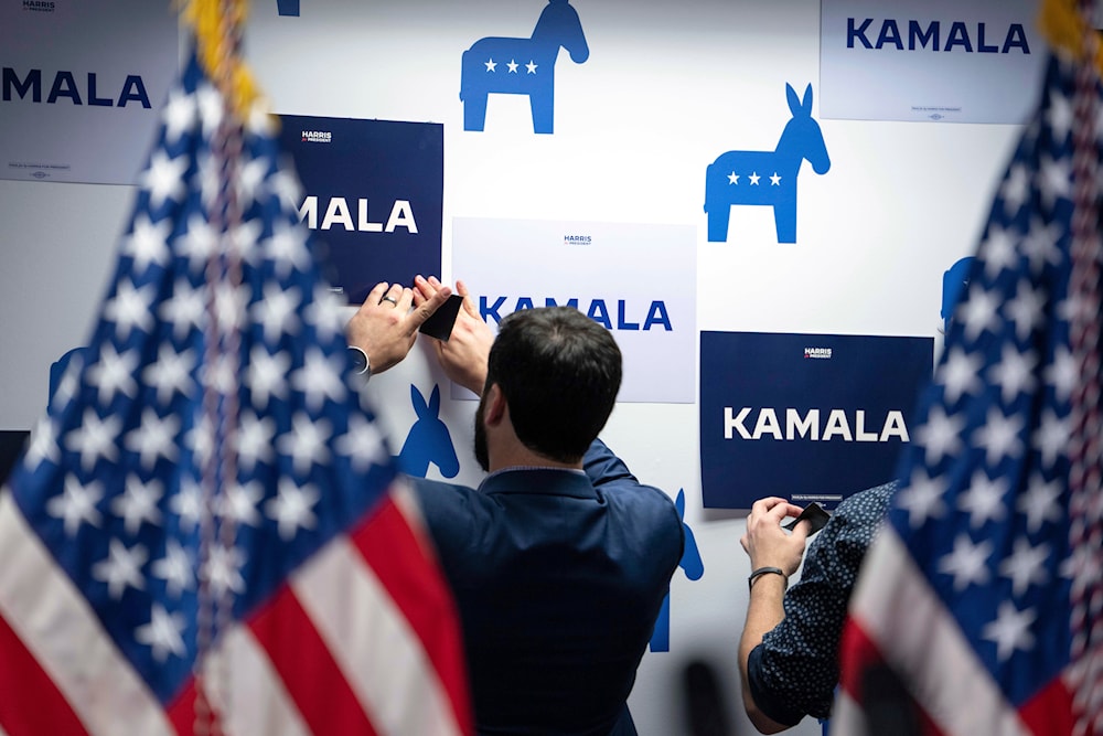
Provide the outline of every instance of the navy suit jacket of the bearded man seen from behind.
<path id="1" fill-rule="evenodd" d="M 635 734 L 627 698 L 682 558 L 663 491 L 600 440 L 585 472 L 413 479 L 460 610 L 480 734 Z"/>

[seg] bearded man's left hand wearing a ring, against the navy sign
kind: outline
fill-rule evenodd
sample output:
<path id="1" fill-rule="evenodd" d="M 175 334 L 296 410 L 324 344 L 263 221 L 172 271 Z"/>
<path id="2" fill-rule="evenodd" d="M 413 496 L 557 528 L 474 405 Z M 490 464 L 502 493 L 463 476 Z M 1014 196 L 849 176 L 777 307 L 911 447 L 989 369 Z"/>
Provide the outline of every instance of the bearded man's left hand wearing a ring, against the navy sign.
<path id="1" fill-rule="evenodd" d="M 345 328 L 349 344 L 367 353 L 372 373 L 383 373 L 406 358 L 417 340 L 418 328 L 451 294 L 451 289 L 441 287 L 414 307 L 413 289 L 386 281 L 376 284 L 349 320 Z"/>

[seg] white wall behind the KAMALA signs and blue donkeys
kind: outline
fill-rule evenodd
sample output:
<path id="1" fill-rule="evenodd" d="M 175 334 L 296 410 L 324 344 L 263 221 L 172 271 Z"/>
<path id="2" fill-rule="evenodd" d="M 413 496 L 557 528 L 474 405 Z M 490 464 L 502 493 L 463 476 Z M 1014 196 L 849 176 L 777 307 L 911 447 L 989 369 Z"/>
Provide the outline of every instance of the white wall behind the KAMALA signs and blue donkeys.
<path id="1" fill-rule="evenodd" d="M 572 0 L 591 55 L 560 55 L 554 136 L 534 135 L 527 100 L 504 96 L 491 97 L 484 132 L 464 132 L 458 97 L 462 51 L 527 35 L 542 0 L 302 0 L 297 19 L 275 4 L 254 3 L 246 36 L 275 111 L 445 125 L 446 280 L 463 277 L 451 273 L 452 217 L 689 224 L 703 330 L 935 335 L 942 273 L 973 253 L 1018 132 L 820 119 L 832 168 L 802 171 L 797 243 L 779 245 L 770 211 L 749 207 L 732 213 L 738 242 L 708 243 L 705 167 L 733 148 L 773 148 L 786 83 L 818 93 L 817 0 Z M 50 363 L 83 343 L 130 195 L 0 181 L 0 429 L 33 425 Z M 370 385 L 396 444 L 414 420 L 409 384 L 433 381 L 417 350 Z M 443 393 L 460 480 L 478 482 L 464 451 L 473 406 Z M 698 657 L 722 678 L 737 733 L 752 733 L 735 663 L 743 522 L 700 508 L 697 426 L 696 405 L 621 404 L 604 433 L 641 479 L 685 489 L 705 563 L 700 580 L 675 574 L 671 652 L 649 653 L 640 671 L 631 706 L 650 736 L 685 733 L 682 674 Z"/>

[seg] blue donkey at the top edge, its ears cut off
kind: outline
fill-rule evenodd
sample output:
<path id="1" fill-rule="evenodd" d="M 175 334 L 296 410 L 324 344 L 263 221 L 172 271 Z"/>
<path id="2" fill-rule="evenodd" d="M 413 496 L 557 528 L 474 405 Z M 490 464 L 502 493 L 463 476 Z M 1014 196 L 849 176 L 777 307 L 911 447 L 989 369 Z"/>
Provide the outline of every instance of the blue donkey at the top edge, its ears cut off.
<path id="1" fill-rule="evenodd" d="M 559 46 L 581 64 L 590 55 L 578 13 L 568 0 L 548 0 L 531 39 L 486 38 L 463 52 L 460 99 L 463 129 L 482 130 L 490 93 L 528 95 L 533 130 L 552 132 L 555 61 Z"/>

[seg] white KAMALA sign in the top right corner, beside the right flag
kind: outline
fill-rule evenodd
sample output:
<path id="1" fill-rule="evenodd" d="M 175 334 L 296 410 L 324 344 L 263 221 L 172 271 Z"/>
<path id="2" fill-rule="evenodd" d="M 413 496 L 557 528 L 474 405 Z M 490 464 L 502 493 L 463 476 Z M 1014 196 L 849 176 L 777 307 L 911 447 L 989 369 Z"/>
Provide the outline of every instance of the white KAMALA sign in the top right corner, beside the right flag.
<path id="1" fill-rule="evenodd" d="M 820 117 L 1021 124 L 1048 45 L 1037 0 L 823 0 Z"/>

